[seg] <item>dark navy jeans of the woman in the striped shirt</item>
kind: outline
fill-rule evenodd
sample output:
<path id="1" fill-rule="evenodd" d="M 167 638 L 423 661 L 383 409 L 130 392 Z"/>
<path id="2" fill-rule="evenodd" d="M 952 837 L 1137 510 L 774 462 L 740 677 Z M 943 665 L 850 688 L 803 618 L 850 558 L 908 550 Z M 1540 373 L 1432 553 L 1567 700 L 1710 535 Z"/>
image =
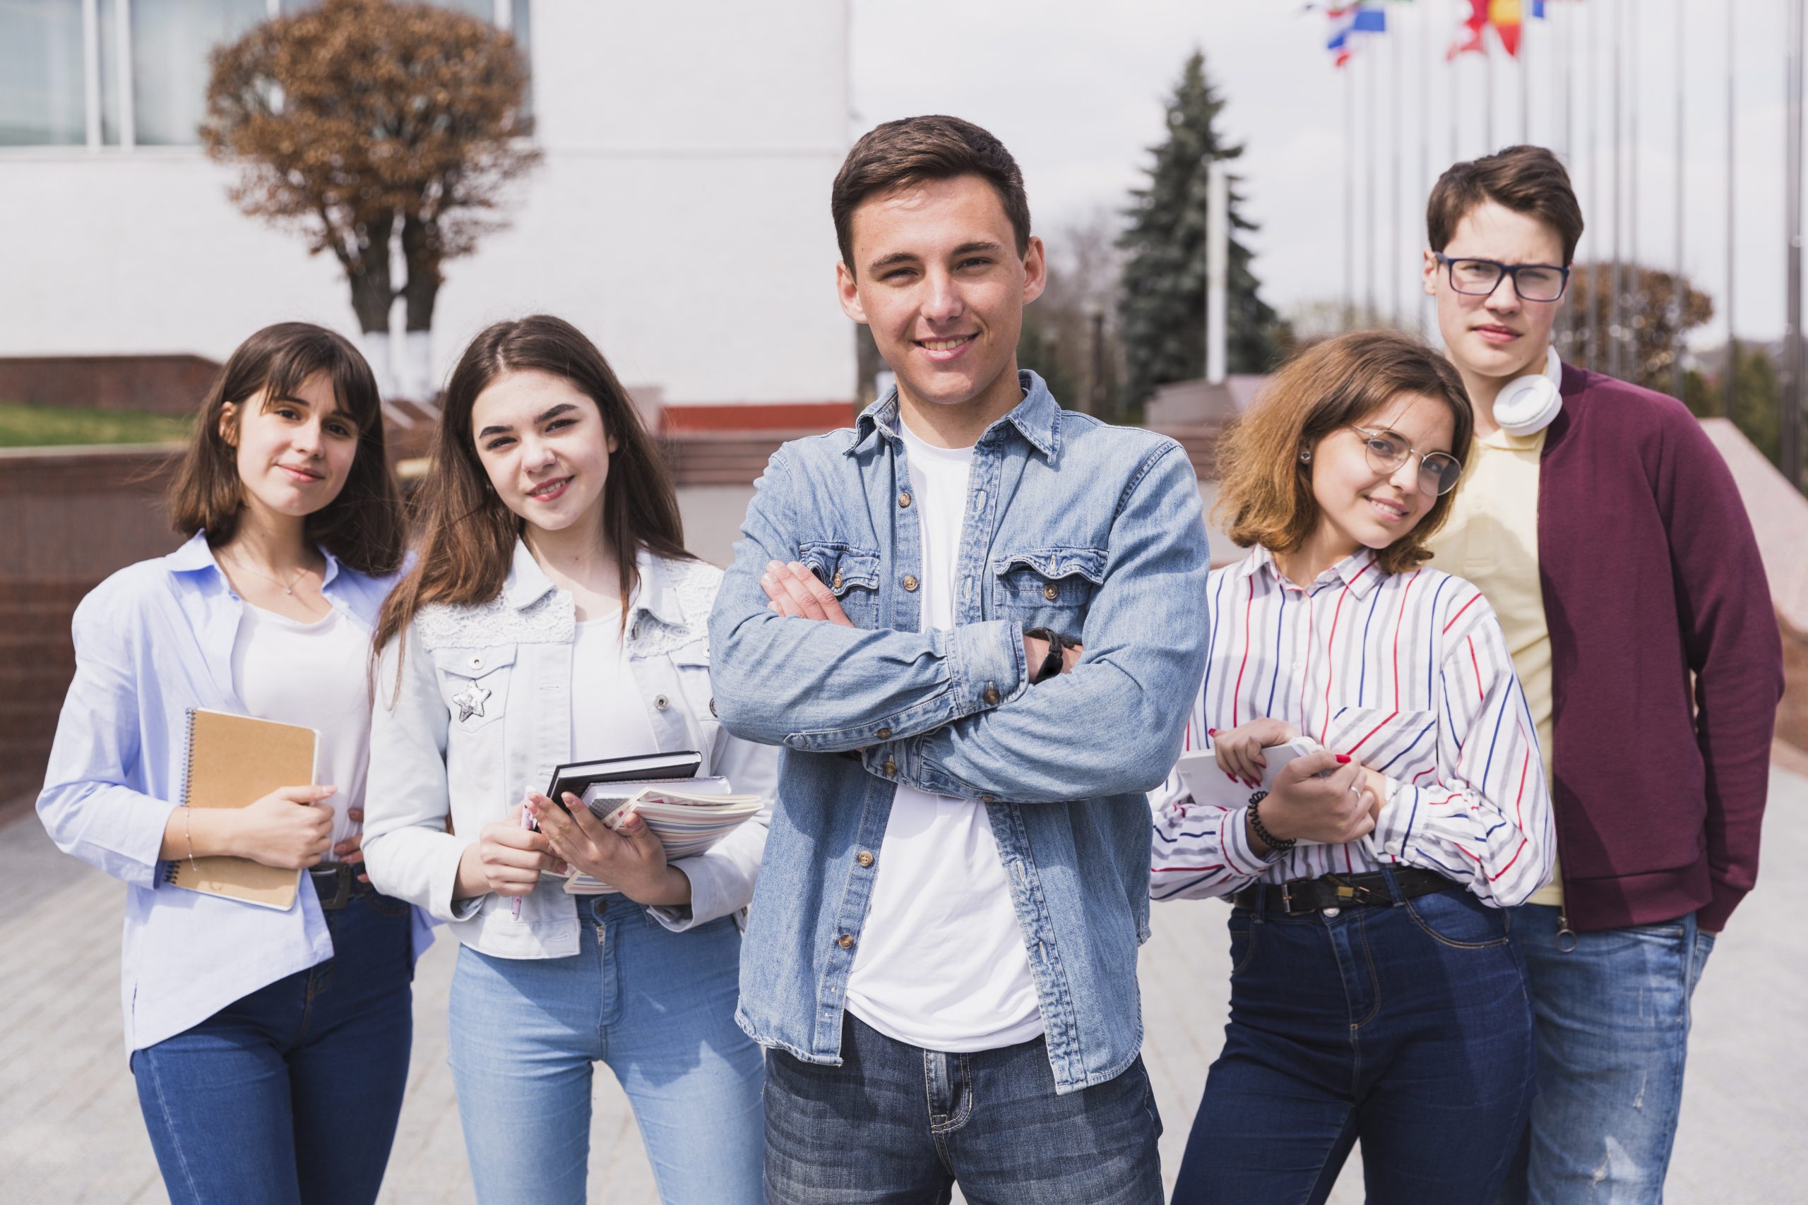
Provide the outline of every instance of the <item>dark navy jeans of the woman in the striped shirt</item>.
<path id="1" fill-rule="evenodd" d="M 1508 925 L 1459 889 L 1233 909 L 1231 1021 L 1173 1203 L 1323 1201 L 1358 1138 L 1372 1205 L 1490 1201 L 1533 1093 Z"/>

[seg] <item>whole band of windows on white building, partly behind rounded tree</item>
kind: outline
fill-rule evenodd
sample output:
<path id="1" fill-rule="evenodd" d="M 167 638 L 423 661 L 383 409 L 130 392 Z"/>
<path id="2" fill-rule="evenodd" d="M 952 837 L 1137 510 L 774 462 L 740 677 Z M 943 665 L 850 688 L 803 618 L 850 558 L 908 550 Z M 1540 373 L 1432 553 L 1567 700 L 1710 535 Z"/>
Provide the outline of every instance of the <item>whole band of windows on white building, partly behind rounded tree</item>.
<path id="1" fill-rule="evenodd" d="M 436 0 L 528 54 L 530 0 Z M 0 0 L 0 146 L 193 146 L 208 52 L 320 0 Z"/>

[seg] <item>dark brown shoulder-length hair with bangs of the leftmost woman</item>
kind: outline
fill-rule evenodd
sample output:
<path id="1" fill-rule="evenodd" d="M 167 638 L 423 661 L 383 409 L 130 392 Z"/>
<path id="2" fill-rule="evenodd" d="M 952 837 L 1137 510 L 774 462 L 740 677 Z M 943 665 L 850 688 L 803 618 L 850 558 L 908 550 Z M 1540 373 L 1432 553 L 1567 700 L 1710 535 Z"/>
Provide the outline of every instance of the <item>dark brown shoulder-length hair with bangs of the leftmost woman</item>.
<path id="1" fill-rule="evenodd" d="M 293 396 L 315 374 L 325 374 L 334 401 L 358 425 L 358 448 L 345 486 L 307 517 L 306 538 L 358 573 L 394 573 L 401 567 L 405 531 L 401 493 L 383 452 L 376 378 L 349 340 L 309 322 L 264 327 L 226 358 L 201 399 L 188 450 L 170 482 L 170 522 L 184 537 L 206 531 L 213 547 L 231 542 L 244 509 L 244 482 L 239 452 L 221 432 L 221 416 L 228 403 L 242 412 L 259 390 L 266 406 L 271 397 Z"/>

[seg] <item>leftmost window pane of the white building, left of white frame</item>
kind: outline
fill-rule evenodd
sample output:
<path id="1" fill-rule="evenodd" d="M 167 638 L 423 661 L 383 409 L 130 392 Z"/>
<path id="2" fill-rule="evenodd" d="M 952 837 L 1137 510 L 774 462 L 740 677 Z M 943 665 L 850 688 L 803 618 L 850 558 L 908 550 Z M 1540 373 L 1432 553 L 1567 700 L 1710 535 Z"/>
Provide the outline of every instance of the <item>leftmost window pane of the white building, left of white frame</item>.
<path id="1" fill-rule="evenodd" d="M 89 141 L 80 4 L 0 0 L 0 146 Z"/>

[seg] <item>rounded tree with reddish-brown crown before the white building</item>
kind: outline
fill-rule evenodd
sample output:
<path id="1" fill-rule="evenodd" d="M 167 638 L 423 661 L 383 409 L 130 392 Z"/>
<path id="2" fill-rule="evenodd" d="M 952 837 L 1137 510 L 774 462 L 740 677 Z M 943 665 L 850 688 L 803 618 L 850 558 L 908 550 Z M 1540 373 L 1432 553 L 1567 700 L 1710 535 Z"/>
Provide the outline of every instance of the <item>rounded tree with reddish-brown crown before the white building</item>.
<path id="1" fill-rule="evenodd" d="M 213 51 L 201 135 L 239 164 L 233 201 L 338 258 L 385 385 L 389 314 L 405 300 L 414 397 L 430 392 L 441 266 L 503 224 L 504 184 L 539 161 L 523 141 L 526 83 L 506 33 L 430 4 L 325 0 Z"/>

